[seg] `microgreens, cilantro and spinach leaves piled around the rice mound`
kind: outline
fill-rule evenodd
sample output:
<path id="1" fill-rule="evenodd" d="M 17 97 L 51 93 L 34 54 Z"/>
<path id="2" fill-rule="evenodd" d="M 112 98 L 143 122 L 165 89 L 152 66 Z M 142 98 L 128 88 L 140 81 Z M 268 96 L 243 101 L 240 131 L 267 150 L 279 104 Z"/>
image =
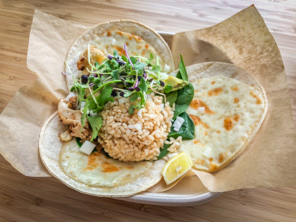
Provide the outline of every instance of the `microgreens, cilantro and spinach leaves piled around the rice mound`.
<path id="1" fill-rule="evenodd" d="M 82 75 L 80 79 L 76 79 L 67 62 L 65 63 L 73 77 L 74 86 L 70 91 L 75 91 L 77 94 L 78 106 L 82 112 L 81 124 L 85 126 L 88 120 L 92 129 L 91 142 L 97 137 L 103 124 L 99 114 L 107 102 L 114 102 L 115 98 L 127 98 L 133 102 L 128 113 L 133 114 L 135 109 L 139 110 L 146 106 L 147 94 L 151 92 L 163 96 L 163 102 L 169 102 L 171 107 L 175 104 L 173 119 L 180 116 L 185 120 L 178 132 L 171 128 L 168 138 L 176 139 L 178 136 L 182 136 L 184 140 L 194 138 L 194 123 L 185 112 L 193 98 L 194 88 L 188 82 L 182 55 L 176 77 L 169 76 L 163 79 L 162 76 L 168 75 L 160 74 L 162 70 L 159 58 L 155 58 L 153 54 L 150 54 L 149 58 L 139 55 L 129 57 L 124 44 L 125 53 L 121 56 L 115 50 L 113 55 L 109 54 L 101 64 L 98 62 L 92 64 L 89 49 L 90 45 L 88 45 L 88 63 L 91 68 L 86 67 L 89 75 Z M 76 142 L 81 147 L 80 138 L 76 138 Z M 158 159 L 169 153 L 167 150 L 169 147 L 170 144 L 164 144 Z"/>

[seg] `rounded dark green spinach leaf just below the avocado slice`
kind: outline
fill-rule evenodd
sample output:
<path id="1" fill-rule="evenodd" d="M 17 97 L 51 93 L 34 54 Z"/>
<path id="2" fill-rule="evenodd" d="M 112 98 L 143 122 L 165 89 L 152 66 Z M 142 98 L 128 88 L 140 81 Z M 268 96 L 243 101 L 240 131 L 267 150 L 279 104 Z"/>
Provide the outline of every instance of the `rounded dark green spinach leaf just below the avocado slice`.
<path id="1" fill-rule="evenodd" d="M 193 99 L 194 95 L 194 88 L 191 83 L 189 83 L 187 86 L 184 86 L 182 89 L 179 89 L 178 96 L 175 101 L 175 112 L 173 120 L 177 118 L 178 115 L 180 115 L 182 112 L 185 112 L 185 110 L 189 107 L 189 104 L 191 100 Z"/>

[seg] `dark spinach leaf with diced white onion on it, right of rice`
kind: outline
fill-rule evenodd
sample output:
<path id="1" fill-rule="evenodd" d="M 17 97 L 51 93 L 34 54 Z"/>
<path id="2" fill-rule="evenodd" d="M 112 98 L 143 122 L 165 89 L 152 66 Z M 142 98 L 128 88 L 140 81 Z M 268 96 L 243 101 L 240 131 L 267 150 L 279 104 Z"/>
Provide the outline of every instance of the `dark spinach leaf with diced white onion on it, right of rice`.
<path id="1" fill-rule="evenodd" d="M 170 128 L 170 133 L 168 134 L 168 138 L 173 137 L 174 139 L 177 139 L 178 136 L 182 136 L 182 140 L 189 140 L 194 138 L 194 122 L 190 118 L 190 116 L 183 112 L 179 115 L 182 117 L 185 121 L 183 125 L 181 126 L 179 132 L 174 131 L 173 126 Z"/>

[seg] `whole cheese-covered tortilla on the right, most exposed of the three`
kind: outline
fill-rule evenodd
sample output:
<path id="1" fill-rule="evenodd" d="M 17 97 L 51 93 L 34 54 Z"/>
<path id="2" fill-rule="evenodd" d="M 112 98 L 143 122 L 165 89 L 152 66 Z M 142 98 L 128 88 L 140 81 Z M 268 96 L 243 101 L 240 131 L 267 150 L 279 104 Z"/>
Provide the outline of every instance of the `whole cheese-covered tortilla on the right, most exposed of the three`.
<path id="1" fill-rule="evenodd" d="M 267 111 L 265 92 L 231 64 L 210 62 L 187 70 L 195 91 L 186 112 L 195 135 L 184 140 L 178 152 L 186 152 L 194 168 L 214 172 L 234 160 L 255 136 Z"/>

